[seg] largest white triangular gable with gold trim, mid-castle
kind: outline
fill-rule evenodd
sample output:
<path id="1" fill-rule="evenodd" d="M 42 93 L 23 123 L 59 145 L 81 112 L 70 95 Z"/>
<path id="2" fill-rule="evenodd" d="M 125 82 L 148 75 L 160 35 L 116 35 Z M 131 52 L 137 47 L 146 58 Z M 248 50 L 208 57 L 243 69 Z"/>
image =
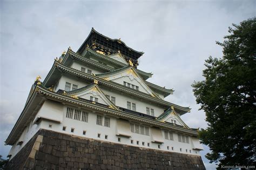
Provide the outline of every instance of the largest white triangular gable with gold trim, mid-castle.
<path id="1" fill-rule="evenodd" d="M 110 73 L 98 74 L 97 76 L 159 98 L 131 66 Z"/>

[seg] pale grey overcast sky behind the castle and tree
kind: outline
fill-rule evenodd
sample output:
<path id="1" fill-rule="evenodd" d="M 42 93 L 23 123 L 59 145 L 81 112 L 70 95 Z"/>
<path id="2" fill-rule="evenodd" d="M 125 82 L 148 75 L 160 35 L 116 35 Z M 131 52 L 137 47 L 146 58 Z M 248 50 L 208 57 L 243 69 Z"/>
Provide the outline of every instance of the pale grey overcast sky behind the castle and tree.
<path id="1" fill-rule="evenodd" d="M 43 80 L 69 46 L 77 51 L 92 27 L 144 51 L 138 68 L 153 73 L 152 83 L 175 90 L 167 101 L 192 108 L 181 116 L 188 126 L 205 128 L 191 84 L 203 80 L 205 59 L 222 56 L 215 40 L 223 41 L 232 23 L 256 16 L 255 9 L 255 1 L 0 1 L 0 154 L 9 152 L 4 140 L 36 76 Z M 205 166 L 214 169 L 204 147 Z"/>

